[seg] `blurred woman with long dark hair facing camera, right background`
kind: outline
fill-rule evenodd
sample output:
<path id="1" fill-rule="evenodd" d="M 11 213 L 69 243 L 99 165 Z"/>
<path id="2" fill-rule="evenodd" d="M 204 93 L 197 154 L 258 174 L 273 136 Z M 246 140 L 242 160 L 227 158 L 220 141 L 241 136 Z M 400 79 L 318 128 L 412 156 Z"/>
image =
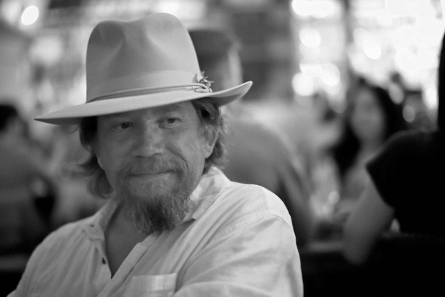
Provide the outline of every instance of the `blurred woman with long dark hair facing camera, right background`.
<path id="1" fill-rule="evenodd" d="M 380 150 L 387 139 L 406 128 L 401 106 L 386 89 L 359 78 L 350 90 L 339 141 L 332 147 L 337 168 L 339 201 L 335 220 L 344 223 L 364 191 L 365 163 Z"/>

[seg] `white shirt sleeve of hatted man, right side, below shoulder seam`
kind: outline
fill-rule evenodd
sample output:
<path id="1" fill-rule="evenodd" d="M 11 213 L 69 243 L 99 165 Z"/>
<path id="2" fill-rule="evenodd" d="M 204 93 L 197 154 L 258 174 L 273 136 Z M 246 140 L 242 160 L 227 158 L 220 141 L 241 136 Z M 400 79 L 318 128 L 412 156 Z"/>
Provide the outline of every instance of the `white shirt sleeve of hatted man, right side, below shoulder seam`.
<path id="1" fill-rule="evenodd" d="M 279 216 L 239 221 L 190 263 L 176 297 L 303 296 L 295 235 Z"/>

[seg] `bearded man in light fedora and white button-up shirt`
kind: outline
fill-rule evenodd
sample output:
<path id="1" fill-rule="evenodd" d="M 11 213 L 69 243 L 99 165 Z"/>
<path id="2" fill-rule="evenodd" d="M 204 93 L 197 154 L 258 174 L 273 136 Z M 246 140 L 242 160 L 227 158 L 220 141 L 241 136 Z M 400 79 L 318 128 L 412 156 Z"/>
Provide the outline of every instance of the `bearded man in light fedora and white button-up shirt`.
<path id="1" fill-rule="evenodd" d="M 38 120 L 80 123 L 92 191 L 110 201 L 35 250 L 11 296 L 302 296 L 291 218 L 276 195 L 230 182 L 219 106 L 188 32 L 165 13 L 102 22 L 87 102 Z"/>

